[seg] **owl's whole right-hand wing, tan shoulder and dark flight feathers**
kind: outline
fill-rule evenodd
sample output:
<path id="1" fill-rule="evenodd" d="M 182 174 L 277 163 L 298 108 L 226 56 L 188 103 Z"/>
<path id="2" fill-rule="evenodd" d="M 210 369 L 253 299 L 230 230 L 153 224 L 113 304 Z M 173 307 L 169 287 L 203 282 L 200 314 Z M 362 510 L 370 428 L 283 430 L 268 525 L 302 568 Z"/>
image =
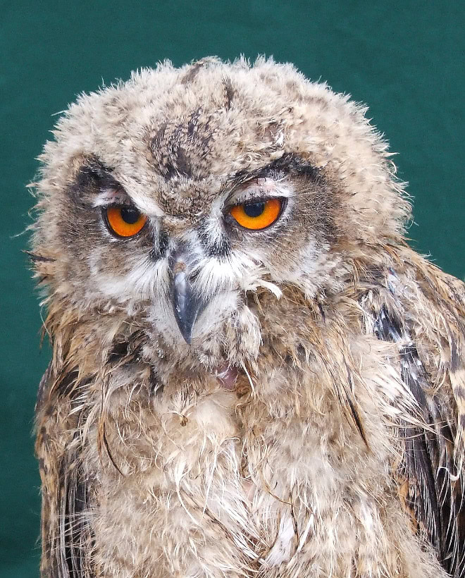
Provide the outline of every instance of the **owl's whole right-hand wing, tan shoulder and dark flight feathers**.
<path id="1" fill-rule="evenodd" d="M 402 459 L 394 474 L 414 527 L 435 548 L 445 570 L 462 578 L 465 285 L 421 257 L 414 259 L 415 276 L 409 271 L 398 278 L 392 269 L 387 274 L 386 298 L 381 297 L 375 312 L 375 334 L 398 343 L 400 376 L 424 423 L 424 427 L 400 424 Z M 403 282 L 407 290 L 398 286 Z M 408 286 L 412 283 L 416 294 Z"/>

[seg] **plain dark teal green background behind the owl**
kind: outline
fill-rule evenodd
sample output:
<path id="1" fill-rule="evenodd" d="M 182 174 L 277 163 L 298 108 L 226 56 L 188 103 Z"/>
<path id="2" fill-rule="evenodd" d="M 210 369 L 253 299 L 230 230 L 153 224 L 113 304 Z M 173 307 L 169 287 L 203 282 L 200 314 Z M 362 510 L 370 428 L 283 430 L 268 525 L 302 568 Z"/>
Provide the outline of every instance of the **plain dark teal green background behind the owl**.
<path id="1" fill-rule="evenodd" d="M 21 252 L 25 185 L 56 113 L 102 81 L 215 54 L 292 61 L 370 106 L 409 181 L 415 247 L 465 276 L 464 25 L 459 1 L 0 1 L 0 575 L 38 576 L 33 410 L 49 350 Z M 416 226 L 418 225 L 418 226 Z"/>

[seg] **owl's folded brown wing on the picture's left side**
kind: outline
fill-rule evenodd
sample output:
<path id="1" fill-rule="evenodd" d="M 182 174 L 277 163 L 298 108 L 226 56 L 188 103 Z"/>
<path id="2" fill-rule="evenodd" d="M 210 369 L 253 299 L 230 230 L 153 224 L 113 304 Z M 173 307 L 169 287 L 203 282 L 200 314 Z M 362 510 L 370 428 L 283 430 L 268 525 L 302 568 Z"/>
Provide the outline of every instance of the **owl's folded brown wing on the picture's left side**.
<path id="1" fill-rule="evenodd" d="M 79 439 L 73 424 L 63 420 L 63 388 L 69 391 L 77 372 L 59 381 L 44 374 L 37 400 L 36 453 L 42 478 L 42 560 L 44 578 L 92 578 L 89 544 L 92 536 L 87 480 L 82 473 Z M 54 392 L 56 395 L 49 395 Z M 74 433 L 73 433 L 74 432 Z"/>

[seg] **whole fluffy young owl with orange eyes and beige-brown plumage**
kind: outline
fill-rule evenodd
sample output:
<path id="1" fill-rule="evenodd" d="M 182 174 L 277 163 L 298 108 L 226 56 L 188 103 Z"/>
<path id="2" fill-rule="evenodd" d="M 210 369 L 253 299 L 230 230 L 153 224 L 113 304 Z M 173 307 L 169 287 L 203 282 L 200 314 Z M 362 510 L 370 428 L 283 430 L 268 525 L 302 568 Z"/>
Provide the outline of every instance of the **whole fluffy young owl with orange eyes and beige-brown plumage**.
<path id="1" fill-rule="evenodd" d="M 42 577 L 464 576 L 465 286 L 407 245 L 365 113 L 210 58 L 58 121 Z"/>

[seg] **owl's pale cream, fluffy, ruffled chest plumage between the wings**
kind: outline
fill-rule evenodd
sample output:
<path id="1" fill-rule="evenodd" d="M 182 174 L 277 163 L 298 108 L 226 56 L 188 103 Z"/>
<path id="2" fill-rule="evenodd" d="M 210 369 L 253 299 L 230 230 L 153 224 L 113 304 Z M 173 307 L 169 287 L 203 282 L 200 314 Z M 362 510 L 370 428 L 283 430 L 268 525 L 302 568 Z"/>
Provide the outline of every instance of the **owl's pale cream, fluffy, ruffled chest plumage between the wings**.
<path id="1" fill-rule="evenodd" d="M 383 443 L 368 450 L 321 377 L 274 369 L 245 394 L 241 377 L 237 390 L 227 378 L 209 377 L 203 391 L 174 380 L 150 403 L 116 393 L 106 439 L 123 475 L 93 460 L 102 571 L 108 548 L 160 577 L 274 576 L 283 565 L 297 576 L 311 560 L 329 575 L 354 556 L 375 564 L 387 541 L 377 500 L 392 491 Z M 366 423 L 367 435 L 376 427 Z"/>

